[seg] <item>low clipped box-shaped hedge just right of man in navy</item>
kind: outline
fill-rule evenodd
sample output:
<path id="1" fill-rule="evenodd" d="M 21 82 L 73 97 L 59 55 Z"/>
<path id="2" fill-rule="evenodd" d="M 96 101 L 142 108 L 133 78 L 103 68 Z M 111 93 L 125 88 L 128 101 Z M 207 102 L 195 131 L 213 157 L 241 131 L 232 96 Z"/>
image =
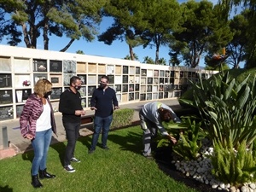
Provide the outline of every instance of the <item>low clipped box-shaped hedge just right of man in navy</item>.
<path id="1" fill-rule="evenodd" d="M 134 109 L 131 108 L 122 108 L 115 110 L 113 112 L 113 121 L 111 123 L 110 129 L 131 125 L 133 113 Z"/>

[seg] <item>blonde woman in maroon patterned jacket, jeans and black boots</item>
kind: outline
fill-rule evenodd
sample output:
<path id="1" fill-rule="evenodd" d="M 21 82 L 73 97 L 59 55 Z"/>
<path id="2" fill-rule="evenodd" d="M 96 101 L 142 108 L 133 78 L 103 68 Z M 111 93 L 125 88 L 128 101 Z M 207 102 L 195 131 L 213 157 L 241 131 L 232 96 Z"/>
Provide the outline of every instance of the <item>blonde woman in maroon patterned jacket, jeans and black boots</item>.
<path id="1" fill-rule="evenodd" d="M 34 149 L 32 160 L 32 186 L 43 187 L 38 180 L 54 178 L 55 175 L 46 172 L 46 160 L 51 142 L 52 131 L 56 134 L 53 108 L 49 102 L 52 84 L 47 79 L 39 79 L 34 86 L 34 93 L 28 97 L 20 115 L 20 131 L 24 138 L 31 140 Z"/>

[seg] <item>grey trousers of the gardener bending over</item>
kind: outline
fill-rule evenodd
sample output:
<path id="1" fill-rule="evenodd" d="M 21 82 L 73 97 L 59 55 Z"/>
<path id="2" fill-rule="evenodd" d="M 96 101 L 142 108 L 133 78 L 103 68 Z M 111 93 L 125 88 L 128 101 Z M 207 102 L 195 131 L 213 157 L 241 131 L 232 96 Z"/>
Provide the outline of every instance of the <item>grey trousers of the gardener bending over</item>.
<path id="1" fill-rule="evenodd" d="M 147 157 L 148 155 L 151 155 L 151 139 L 157 137 L 158 129 L 156 128 L 154 122 L 143 116 L 141 111 L 139 113 L 139 117 L 141 121 L 141 127 L 143 129 L 143 155 Z"/>

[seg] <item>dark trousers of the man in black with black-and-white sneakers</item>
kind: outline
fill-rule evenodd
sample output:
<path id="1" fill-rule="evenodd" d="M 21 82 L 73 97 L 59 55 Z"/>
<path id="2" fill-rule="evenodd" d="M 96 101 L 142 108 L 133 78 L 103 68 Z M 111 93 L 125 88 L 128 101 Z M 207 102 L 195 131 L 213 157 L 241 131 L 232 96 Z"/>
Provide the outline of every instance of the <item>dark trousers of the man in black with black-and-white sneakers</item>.
<path id="1" fill-rule="evenodd" d="M 65 127 L 66 131 L 66 137 L 67 137 L 67 147 L 65 151 L 65 157 L 64 157 L 64 166 L 70 165 L 70 160 L 74 156 L 74 150 L 76 146 L 76 142 L 79 138 L 79 129 L 81 122 L 78 123 L 70 123 L 65 122 L 65 120 L 62 120 L 62 123 Z"/>

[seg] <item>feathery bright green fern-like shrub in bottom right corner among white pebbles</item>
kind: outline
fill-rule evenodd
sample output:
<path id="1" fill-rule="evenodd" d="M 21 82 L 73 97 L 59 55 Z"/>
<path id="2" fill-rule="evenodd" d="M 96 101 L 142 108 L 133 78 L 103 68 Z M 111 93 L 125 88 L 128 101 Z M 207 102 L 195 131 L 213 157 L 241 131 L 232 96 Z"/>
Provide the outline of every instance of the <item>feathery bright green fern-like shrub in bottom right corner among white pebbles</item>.
<path id="1" fill-rule="evenodd" d="M 223 147 L 222 143 L 214 143 L 212 160 L 212 174 L 219 181 L 239 187 L 241 183 L 256 180 L 256 153 L 246 148 L 246 141 L 238 144 L 237 151 L 232 141 Z"/>

